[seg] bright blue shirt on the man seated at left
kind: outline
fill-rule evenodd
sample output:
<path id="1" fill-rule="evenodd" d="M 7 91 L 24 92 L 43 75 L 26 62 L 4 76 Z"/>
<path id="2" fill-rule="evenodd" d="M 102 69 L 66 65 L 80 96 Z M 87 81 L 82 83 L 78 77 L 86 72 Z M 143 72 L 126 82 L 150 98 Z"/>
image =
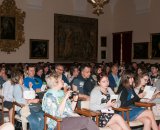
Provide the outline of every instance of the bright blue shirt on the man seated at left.
<path id="1" fill-rule="evenodd" d="M 29 88 L 29 82 L 33 84 L 32 88 L 33 90 L 39 89 L 42 87 L 42 80 L 40 78 L 36 77 L 26 77 L 24 78 L 24 86 Z"/>

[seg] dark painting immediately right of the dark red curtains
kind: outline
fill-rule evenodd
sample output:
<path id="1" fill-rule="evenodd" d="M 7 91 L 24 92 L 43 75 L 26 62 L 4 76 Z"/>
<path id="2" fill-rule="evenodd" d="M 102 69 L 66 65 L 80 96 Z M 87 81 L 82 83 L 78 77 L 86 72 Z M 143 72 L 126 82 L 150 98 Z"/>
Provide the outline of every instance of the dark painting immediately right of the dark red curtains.
<path id="1" fill-rule="evenodd" d="M 148 59 L 149 42 L 133 43 L 133 59 Z"/>

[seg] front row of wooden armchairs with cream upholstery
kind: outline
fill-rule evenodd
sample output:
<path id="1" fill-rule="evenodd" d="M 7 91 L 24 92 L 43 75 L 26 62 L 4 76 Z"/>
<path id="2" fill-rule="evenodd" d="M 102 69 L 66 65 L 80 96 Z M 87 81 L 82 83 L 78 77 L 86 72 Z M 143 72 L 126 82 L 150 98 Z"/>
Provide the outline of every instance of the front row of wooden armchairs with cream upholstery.
<path id="1" fill-rule="evenodd" d="M 1 115 L 2 115 L 2 124 L 4 123 L 4 113 L 8 112 L 8 109 L 4 108 L 4 104 L 3 104 L 3 96 L 0 96 L 0 111 L 1 111 Z M 137 102 L 135 103 L 136 106 L 139 107 L 146 107 L 148 109 L 152 109 L 152 107 L 155 105 L 154 103 L 142 103 L 142 102 Z M 24 105 L 21 105 L 17 102 L 13 102 L 13 119 L 12 119 L 12 123 L 15 123 L 15 120 L 18 120 L 20 122 L 22 122 L 21 117 L 15 114 L 15 108 L 16 106 L 18 107 L 23 107 Z M 122 117 L 124 117 L 124 113 L 126 113 L 127 115 L 127 123 L 130 125 L 130 127 L 137 127 L 137 126 L 142 126 L 142 122 L 140 121 L 130 121 L 129 120 L 129 111 L 130 108 L 127 107 L 120 107 L 120 108 L 113 108 L 115 111 L 119 111 L 122 113 Z M 95 117 L 96 119 L 96 124 L 98 125 L 98 117 L 99 117 L 99 112 L 94 112 L 89 110 L 89 101 L 81 101 L 81 108 L 76 108 L 75 110 L 76 113 L 86 116 L 86 117 Z M 47 118 L 51 118 L 53 120 L 55 120 L 57 122 L 57 129 L 60 130 L 60 123 L 62 121 L 62 119 L 56 118 L 54 116 L 51 116 L 47 113 L 44 114 L 44 130 L 47 130 Z M 159 120 L 159 117 L 157 118 L 157 120 Z M 24 122 L 23 122 L 24 123 Z M 25 122 L 27 123 L 27 122 Z M 23 126 L 23 125 L 22 125 Z M 25 128 L 24 128 L 25 129 Z M 110 128 L 100 128 L 101 130 L 110 130 Z"/>

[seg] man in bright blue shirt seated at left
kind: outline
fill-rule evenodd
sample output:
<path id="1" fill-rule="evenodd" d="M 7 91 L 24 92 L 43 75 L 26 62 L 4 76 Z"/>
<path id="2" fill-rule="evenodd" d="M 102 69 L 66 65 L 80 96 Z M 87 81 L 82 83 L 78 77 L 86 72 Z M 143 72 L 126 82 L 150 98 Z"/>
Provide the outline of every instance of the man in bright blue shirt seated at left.
<path id="1" fill-rule="evenodd" d="M 24 78 L 24 86 L 27 88 L 29 88 L 29 86 L 32 86 L 33 90 L 40 91 L 43 82 L 40 78 L 35 77 L 35 67 L 29 65 L 27 71 L 28 77 Z"/>

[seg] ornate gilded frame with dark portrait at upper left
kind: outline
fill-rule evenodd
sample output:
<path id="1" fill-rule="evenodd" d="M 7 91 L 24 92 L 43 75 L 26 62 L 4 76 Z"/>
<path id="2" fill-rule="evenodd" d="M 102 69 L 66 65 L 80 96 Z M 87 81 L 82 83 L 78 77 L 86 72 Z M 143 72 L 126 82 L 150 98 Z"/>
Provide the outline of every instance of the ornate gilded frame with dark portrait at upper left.
<path id="1" fill-rule="evenodd" d="M 14 0 L 3 0 L 0 5 L 0 50 L 16 51 L 24 42 L 25 12 L 18 9 Z"/>

